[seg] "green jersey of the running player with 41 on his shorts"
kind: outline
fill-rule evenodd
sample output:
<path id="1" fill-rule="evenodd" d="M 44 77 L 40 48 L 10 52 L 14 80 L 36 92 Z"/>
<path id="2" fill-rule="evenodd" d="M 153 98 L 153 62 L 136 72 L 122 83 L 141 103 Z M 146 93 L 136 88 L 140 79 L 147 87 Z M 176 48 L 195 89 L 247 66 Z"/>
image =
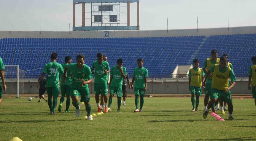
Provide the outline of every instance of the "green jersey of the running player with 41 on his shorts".
<path id="1" fill-rule="evenodd" d="M 77 63 L 75 64 L 68 64 L 66 65 L 70 73 L 72 73 L 72 83 L 71 87 L 72 88 L 83 88 L 86 89 L 88 88 L 88 84 L 82 85 L 82 79 L 84 81 L 88 81 L 92 79 L 92 71 L 90 67 L 88 67 L 86 64 L 84 64 L 83 68 L 77 68 Z"/>

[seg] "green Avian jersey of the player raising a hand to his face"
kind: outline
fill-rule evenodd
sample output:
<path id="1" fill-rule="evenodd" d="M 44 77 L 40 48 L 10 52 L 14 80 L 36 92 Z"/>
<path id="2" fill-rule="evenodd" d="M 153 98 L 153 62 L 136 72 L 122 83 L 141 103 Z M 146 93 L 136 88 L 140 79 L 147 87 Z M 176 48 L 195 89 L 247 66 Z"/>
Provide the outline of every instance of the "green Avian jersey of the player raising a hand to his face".
<path id="1" fill-rule="evenodd" d="M 125 67 L 122 67 L 122 72 L 126 75 Z M 110 75 L 113 76 L 111 86 L 122 88 L 123 77 L 117 66 L 111 68 Z"/>

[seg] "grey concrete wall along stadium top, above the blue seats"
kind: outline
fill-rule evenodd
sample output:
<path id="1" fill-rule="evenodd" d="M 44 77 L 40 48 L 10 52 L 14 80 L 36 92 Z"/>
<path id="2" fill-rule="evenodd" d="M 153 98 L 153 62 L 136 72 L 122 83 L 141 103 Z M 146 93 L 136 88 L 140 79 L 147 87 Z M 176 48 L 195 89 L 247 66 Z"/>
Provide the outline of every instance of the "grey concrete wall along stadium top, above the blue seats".
<path id="1" fill-rule="evenodd" d="M 148 31 L 109 31 L 109 37 L 172 37 L 172 36 L 210 36 L 227 34 L 256 33 L 256 26 L 204 29 L 175 29 Z M 104 31 L 0 31 L 2 38 L 103 38 Z"/>

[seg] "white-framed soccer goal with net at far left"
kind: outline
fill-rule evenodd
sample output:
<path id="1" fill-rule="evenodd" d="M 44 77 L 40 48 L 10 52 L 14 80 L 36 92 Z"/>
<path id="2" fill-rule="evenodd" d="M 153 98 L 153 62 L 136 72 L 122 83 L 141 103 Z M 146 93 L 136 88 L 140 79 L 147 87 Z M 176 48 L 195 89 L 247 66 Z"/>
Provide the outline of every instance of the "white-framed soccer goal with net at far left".
<path id="1" fill-rule="evenodd" d="M 3 90 L 3 94 L 16 95 L 18 98 L 20 93 L 24 93 L 26 71 L 21 70 L 19 65 L 5 65 L 4 73 L 7 90 Z"/>

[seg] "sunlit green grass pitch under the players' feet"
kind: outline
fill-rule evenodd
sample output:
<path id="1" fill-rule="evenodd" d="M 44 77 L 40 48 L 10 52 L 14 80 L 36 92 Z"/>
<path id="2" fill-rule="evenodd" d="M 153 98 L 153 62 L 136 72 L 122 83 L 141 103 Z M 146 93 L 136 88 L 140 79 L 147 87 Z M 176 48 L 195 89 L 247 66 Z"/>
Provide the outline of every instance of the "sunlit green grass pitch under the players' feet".
<path id="1" fill-rule="evenodd" d="M 234 99 L 235 121 L 228 121 L 228 114 L 220 115 L 226 121 L 217 121 L 208 115 L 202 117 L 203 98 L 200 112 L 191 112 L 190 98 L 145 98 L 144 112 L 134 113 L 134 98 L 127 98 L 126 106 L 117 113 L 117 99 L 113 98 L 112 112 L 94 116 L 93 121 L 84 119 L 84 105 L 80 104 L 81 115 L 58 112 L 49 115 L 46 102 L 37 103 L 37 98 L 4 98 L 0 105 L 0 140 L 18 136 L 25 141 L 50 140 L 256 140 L 256 108 L 253 99 Z M 59 102 L 59 99 L 58 99 Z M 91 98 L 92 112 L 97 111 L 94 97 Z M 59 104 L 58 104 L 59 105 Z M 57 106 L 58 106 L 57 105 Z"/>

